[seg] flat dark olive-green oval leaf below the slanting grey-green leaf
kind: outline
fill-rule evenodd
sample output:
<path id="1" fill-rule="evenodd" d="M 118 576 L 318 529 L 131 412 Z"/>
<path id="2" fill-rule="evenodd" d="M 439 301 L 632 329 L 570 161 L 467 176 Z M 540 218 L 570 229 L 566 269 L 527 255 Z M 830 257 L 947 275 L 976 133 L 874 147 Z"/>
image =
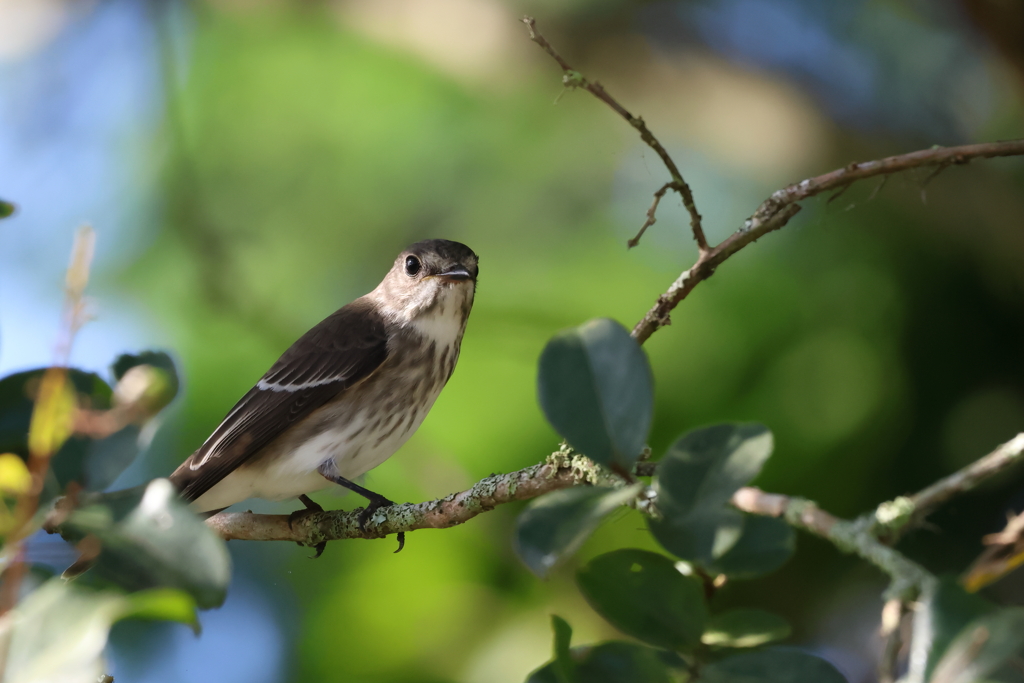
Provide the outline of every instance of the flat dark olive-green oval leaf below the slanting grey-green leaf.
<path id="1" fill-rule="evenodd" d="M 688 651 L 708 620 L 703 588 L 664 555 L 616 550 L 577 573 L 587 602 L 616 629 L 656 647 Z"/>

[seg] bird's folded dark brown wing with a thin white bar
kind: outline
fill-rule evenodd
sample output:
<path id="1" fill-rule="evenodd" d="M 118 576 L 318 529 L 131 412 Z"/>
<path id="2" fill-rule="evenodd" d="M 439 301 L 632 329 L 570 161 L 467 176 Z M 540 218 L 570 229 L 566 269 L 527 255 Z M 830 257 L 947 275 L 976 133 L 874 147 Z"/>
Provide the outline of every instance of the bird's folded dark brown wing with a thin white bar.
<path id="1" fill-rule="evenodd" d="M 387 329 L 369 302 L 332 313 L 285 351 L 171 481 L 185 501 L 195 501 L 386 357 Z"/>

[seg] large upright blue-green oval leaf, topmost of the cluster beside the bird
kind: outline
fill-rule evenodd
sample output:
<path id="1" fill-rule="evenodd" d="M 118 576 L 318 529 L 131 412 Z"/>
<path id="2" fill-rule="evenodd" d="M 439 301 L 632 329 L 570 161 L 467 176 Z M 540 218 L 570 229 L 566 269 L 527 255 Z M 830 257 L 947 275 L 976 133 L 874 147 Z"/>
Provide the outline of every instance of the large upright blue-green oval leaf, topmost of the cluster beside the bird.
<path id="1" fill-rule="evenodd" d="M 626 328 L 599 318 L 553 337 L 538 390 L 548 422 L 573 449 L 602 465 L 633 467 L 650 430 L 654 382 Z"/>

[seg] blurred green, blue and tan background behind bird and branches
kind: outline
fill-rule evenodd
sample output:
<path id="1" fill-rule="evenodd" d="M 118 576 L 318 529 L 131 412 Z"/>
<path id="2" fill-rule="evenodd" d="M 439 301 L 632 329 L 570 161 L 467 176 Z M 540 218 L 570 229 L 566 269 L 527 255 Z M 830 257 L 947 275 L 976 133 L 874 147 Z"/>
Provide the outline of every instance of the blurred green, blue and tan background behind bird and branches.
<path id="1" fill-rule="evenodd" d="M 398 501 L 530 465 L 557 444 L 536 364 L 561 328 L 632 326 L 695 258 L 677 198 L 622 120 L 526 37 L 541 30 L 642 115 L 709 239 L 773 189 L 851 161 L 1024 136 L 1024 9 L 995 0 L 0 0 L 0 371 L 50 361 L 61 275 L 98 231 L 95 321 L 75 365 L 162 348 L 184 390 L 120 483 L 169 472 L 296 337 L 371 289 L 407 244 L 481 259 L 452 382 L 367 485 Z M 646 344 L 655 456 L 683 431 L 759 421 L 759 483 L 855 515 L 1024 430 L 1024 163 L 978 162 L 821 198 L 723 265 Z M 316 496 L 328 507 L 360 500 Z M 1024 504 L 1014 478 L 903 548 L 958 572 Z M 290 504 L 256 502 L 256 510 Z M 392 540 L 232 543 L 226 604 L 195 638 L 119 626 L 118 680 L 503 683 L 614 637 L 572 584 L 511 551 L 517 506 Z M 579 560 L 651 547 L 624 512 Z M 39 557 L 60 549 L 41 543 Z M 56 561 L 56 560 L 54 560 Z M 794 642 L 870 680 L 883 578 L 802 536 L 719 606 L 762 606 Z M 989 590 L 1024 602 L 1013 577 Z"/>

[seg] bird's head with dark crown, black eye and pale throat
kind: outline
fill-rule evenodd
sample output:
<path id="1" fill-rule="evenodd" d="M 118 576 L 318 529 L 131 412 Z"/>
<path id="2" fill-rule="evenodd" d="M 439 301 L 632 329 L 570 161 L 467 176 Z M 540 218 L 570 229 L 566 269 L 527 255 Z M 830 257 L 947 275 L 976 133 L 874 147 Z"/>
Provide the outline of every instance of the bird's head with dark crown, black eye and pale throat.
<path id="1" fill-rule="evenodd" d="M 394 260 L 370 296 L 393 319 L 412 322 L 425 314 L 462 318 L 473 306 L 477 257 L 464 244 L 424 240 Z"/>

